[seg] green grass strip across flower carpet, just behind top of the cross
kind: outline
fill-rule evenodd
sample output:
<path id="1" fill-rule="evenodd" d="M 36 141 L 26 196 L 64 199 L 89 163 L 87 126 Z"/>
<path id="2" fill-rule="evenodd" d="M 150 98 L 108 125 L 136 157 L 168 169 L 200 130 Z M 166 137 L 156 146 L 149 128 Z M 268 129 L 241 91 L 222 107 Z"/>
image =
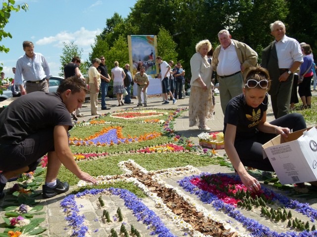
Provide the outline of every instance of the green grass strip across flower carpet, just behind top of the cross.
<path id="1" fill-rule="evenodd" d="M 133 159 L 147 170 L 159 170 L 164 168 L 182 167 L 193 165 L 195 167 L 218 164 L 222 158 L 208 157 L 198 155 L 196 153 L 152 153 L 152 154 L 120 154 L 117 156 L 109 156 L 106 158 L 80 161 L 78 165 L 80 169 L 91 174 L 98 175 L 114 175 L 122 174 L 118 167 L 118 163 L 122 160 Z M 79 179 L 73 175 L 64 166 L 61 167 L 58 178 L 63 182 L 67 181 L 70 185 L 76 185 Z"/>

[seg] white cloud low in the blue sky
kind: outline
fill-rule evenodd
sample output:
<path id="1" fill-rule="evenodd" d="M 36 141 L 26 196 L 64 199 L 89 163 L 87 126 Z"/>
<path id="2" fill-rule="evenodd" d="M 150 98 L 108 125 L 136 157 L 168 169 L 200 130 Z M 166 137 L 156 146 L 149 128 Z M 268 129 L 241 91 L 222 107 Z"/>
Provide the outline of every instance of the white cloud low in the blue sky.
<path id="1" fill-rule="evenodd" d="M 54 43 L 56 47 L 63 47 L 63 42 L 69 43 L 74 41 L 78 47 L 86 47 L 94 44 L 96 35 L 101 33 L 100 29 L 94 31 L 86 30 L 85 27 L 81 27 L 80 30 L 76 32 L 62 31 L 57 33 L 55 36 L 44 37 L 37 40 L 36 43 L 39 45 L 46 45 Z"/>

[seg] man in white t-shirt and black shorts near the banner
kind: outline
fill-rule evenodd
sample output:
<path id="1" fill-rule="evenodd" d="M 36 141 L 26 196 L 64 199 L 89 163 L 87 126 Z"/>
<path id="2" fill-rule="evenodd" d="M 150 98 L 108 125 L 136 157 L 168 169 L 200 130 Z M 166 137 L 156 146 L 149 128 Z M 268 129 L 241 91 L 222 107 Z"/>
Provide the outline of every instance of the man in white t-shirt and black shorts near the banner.
<path id="1" fill-rule="evenodd" d="M 172 92 L 169 89 L 169 72 L 170 72 L 170 66 L 162 60 L 160 56 L 156 58 L 157 63 L 160 65 L 160 76 L 161 76 L 161 82 L 162 82 L 162 96 L 164 102 L 162 104 L 169 104 L 168 101 L 168 95 L 173 100 L 173 105 L 176 103 L 176 99 L 174 98 Z"/>

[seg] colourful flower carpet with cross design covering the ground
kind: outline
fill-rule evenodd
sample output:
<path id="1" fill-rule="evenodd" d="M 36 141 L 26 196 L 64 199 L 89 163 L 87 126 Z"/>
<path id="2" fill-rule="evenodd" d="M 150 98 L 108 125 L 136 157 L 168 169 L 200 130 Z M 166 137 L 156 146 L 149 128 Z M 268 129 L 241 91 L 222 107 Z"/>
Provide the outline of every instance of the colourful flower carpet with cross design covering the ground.
<path id="1" fill-rule="evenodd" d="M 264 184 L 263 192 L 252 195 L 237 176 L 214 171 L 223 161 L 216 150 L 174 131 L 184 110 L 128 109 L 76 122 L 69 139 L 74 160 L 98 184 L 61 168 L 58 177 L 74 192 L 52 199 L 59 207 L 59 232 L 53 232 L 43 218 L 50 205 L 37 203 L 48 162 L 44 156 L 43 169 L 23 175 L 11 191 L 12 204 L 0 209 L 0 237 L 317 236 L 315 203 Z"/>

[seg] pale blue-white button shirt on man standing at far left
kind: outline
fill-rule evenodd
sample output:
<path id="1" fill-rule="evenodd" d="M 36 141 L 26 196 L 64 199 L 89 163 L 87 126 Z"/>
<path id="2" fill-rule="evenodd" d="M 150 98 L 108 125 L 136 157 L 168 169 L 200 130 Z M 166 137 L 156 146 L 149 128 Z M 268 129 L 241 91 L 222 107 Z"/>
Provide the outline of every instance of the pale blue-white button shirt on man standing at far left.
<path id="1" fill-rule="evenodd" d="M 15 67 L 14 84 L 17 85 L 23 84 L 22 76 L 26 81 L 52 77 L 49 64 L 41 53 L 34 53 L 33 59 L 24 54 L 18 59 Z"/>

